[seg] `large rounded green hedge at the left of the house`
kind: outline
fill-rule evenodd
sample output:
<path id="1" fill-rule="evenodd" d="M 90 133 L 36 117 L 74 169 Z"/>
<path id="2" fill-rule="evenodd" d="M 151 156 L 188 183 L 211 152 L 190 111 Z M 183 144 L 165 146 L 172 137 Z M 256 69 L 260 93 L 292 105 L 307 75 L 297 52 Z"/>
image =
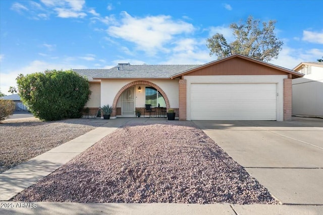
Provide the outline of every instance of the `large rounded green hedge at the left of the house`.
<path id="1" fill-rule="evenodd" d="M 46 121 L 79 118 L 91 94 L 89 83 L 72 70 L 46 70 L 17 77 L 19 95 L 32 114 Z"/>

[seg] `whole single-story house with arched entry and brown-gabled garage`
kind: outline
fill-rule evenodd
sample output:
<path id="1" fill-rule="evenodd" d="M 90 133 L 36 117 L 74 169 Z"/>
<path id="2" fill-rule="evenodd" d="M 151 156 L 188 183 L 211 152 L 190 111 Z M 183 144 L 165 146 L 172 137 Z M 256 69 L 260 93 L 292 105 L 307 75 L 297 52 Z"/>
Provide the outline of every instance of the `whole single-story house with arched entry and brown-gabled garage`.
<path id="1" fill-rule="evenodd" d="M 112 118 L 134 117 L 136 109 L 159 103 L 180 120 L 291 120 L 292 79 L 303 76 L 240 54 L 203 65 L 119 63 L 73 70 L 89 79 L 86 106 L 93 113 L 110 104 Z"/>

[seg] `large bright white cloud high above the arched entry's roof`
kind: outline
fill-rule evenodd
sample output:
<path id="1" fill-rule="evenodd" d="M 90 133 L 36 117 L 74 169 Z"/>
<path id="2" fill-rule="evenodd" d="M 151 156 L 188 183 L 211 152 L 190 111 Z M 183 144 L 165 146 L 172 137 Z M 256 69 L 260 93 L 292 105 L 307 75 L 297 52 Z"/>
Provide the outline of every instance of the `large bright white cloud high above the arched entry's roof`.
<path id="1" fill-rule="evenodd" d="M 110 26 L 109 35 L 133 42 L 137 48 L 149 54 L 158 50 L 167 52 L 163 45 L 170 42 L 174 35 L 192 33 L 194 27 L 183 21 L 173 21 L 170 16 L 132 17 L 123 12 L 119 26 Z"/>

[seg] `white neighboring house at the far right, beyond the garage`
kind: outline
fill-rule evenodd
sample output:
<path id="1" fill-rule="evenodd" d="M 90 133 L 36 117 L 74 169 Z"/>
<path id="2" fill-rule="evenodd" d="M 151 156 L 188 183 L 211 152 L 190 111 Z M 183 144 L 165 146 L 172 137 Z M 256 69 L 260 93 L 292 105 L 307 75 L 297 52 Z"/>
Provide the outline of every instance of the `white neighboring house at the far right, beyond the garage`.
<path id="1" fill-rule="evenodd" d="M 304 77 L 293 80 L 292 114 L 323 117 L 323 62 L 302 62 L 293 70 Z"/>

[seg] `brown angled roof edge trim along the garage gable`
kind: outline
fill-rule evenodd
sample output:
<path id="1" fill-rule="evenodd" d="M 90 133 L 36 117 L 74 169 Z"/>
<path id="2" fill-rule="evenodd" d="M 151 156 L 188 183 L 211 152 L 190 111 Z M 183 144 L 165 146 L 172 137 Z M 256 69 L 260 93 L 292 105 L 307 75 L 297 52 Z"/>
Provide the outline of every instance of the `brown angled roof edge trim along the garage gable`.
<path id="1" fill-rule="evenodd" d="M 267 63 L 267 62 L 264 62 L 264 61 L 261 61 L 261 60 L 257 60 L 257 59 L 254 59 L 254 58 L 251 58 L 251 57 L 248 57 L 248 56 L 244 56 L 242 54 L 233 54 L 233 55 L 230 55 L 228 57 L 224 57 L 224 58 L 221 58 L 221 59 L 218 59 L 218 60 L 214 60 L 214 61 L 205 63 L 203 65 L 197 66 L 195 68 L 183 71 L 182 73 L 178 73 L 178 74 L 176 74 L 174 76 L 171 76 L 171 78 L 174 79 L 174 78 L 177 78 L 177 77 L 180 77 L 180 76 L 184 76 L 186 74 L 192 73 L 193 71 L 199 70 L 201 68 L 205 68 L 207 66 L 217 64 L 217 63 L 220 63 L 220 62 L 223 62 L 223 61 L 229 60 L 231 58 L 235 58 L 235 57 L 239 57 L 239 58 L 242 58 L 242 59 L 245 59 L 245 60 L 249 60 L 249 61 L 252 61 L 252 62 L 255 62 L 255 63 L 259 63 L 259 64 L 262 64 L 262 65 L 265 65 L 265 66 L 268 66 L 268 67 L 272 67 L 272 68 L 275 68 L 275 69 L 278 69 L 278 70 L 281 70 L 281 71 L 285 71 L 285 73 L 292 74 L 293 78 L 300 78 L 300 77 L 304 76 L 303 74 L 297 73 L 296 71 L 293 71 L 293 70 L 288 69 L 288 68 L 284 68 L 284 67 L 281 67 L 281 66 L 278 66 L 278 65 L 274 65 L 274 64 Z"/>

